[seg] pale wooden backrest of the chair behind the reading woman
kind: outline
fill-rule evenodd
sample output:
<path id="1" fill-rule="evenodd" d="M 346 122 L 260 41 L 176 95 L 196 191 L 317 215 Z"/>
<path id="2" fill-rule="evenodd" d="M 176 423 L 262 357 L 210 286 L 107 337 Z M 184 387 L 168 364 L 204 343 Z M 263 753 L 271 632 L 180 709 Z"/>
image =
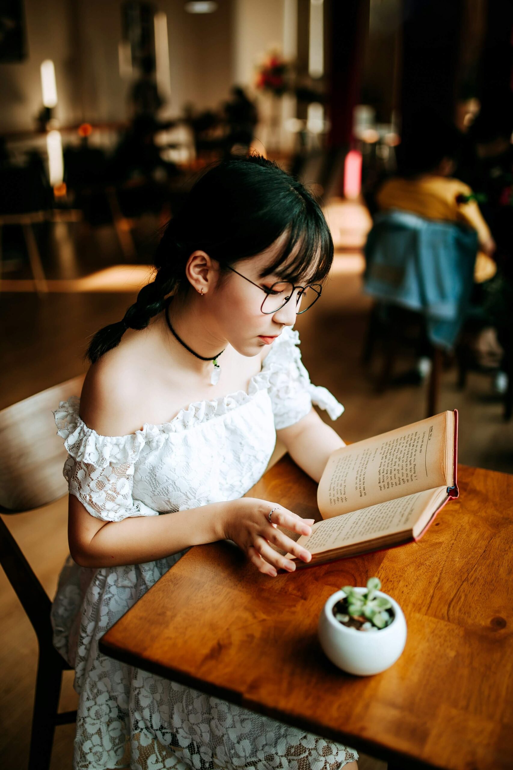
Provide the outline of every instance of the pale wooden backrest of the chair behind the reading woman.
<path id="1" fill-rule="evenodd" d="M 52 410 L 79 396 L 83 376 L 74 377 L 0 411 L 0 510 L 30 511 L 66 493 L 62 476 L 67 453 Z"/>

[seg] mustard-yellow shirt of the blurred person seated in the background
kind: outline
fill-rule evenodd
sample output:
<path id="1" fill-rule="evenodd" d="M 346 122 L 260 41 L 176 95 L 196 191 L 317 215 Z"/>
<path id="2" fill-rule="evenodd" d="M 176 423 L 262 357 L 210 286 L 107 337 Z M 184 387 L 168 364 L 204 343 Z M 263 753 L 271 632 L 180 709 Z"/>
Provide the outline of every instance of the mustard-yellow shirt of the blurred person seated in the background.
<path id="1" fill-rule="evenodd" d="M 388 179 L 381 186 L 376 201 L 381 210 L 402 209 L 426 219 L 441 222 L 458 222 L 470 226 L 478 233 L 479 242 L 490 238 L 490 230 L 475 200 L 457 203 L 459 195 L 471 195 L 471 188 L 459 179 L 446 176 L 420 176 L 417 179 Z M 493 259 L 478 253 L 474 278 L 477 283 L 492 278 L 497 271 Z"/>

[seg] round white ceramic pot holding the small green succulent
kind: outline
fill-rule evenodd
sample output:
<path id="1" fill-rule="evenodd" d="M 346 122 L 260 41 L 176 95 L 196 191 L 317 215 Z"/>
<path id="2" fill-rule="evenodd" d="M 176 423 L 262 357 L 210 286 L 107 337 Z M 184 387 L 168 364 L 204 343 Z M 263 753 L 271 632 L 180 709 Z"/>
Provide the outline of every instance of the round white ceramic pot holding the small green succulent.
<path id="1" fill-rule="evenodd" d="M 367 589 L 356 591 L 363 593 Z M 405 648 L 406 621 L 401 608 L 388 594 L 377 591 L 377 595 L 388 599 L 394 611 L 391 624 L 378 631 L 357 631 L 336 620 L 333 608 L 345 597 L 344 591 L 331 594 L 322 609 L 318 624 L 321 647 L 332 663 L 349 674 L 379 674 L 395 663 Z"/>

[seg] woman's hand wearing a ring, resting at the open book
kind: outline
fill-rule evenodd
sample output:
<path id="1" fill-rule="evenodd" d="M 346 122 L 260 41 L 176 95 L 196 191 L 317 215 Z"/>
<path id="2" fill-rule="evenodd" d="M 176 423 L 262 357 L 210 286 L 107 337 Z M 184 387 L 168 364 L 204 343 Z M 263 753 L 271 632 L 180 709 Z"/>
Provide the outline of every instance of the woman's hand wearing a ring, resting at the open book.
<path id="1" fill-rule="evenodd" d="M 276 508 L 269 523 L 269 511 Z M 277 525 L 299 534 L 311 534 L 315 519 L 301 519 L 287 508 L 268 500 L 256 497 L 241 497 L 231 500 L 226 507 L 223 530 L 226 540 L 232 540 L 244 551 L 255 567 L 264 574 L 276 577 L 278 569 L 288 572 L 295 570 L 295 564 L 278 554 L 270 543 L 281 548 L 285 553 L 293 554 L 301 561 L 310 561 L 311 554 L 286 534 L 277 529 Z"/>

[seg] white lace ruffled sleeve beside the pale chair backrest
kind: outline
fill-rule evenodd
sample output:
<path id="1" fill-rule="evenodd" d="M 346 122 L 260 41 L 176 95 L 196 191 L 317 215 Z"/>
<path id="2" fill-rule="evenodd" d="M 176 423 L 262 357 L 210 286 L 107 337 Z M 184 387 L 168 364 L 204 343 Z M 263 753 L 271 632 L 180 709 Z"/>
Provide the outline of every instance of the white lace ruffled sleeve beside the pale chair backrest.
<path id="1" fill-rule="evenodd" d="M 145 444 L 142 431 L 128 436 L 100 436 L 78 415 L 79 403 L 72 397 L 61 401 L 54 412 L 57 434 L 65 439 L 68 450 L 62 472 L 69 494 L 102 521 L 158 516 L 158 511 L 132 497 L 135 462 Z"/>

